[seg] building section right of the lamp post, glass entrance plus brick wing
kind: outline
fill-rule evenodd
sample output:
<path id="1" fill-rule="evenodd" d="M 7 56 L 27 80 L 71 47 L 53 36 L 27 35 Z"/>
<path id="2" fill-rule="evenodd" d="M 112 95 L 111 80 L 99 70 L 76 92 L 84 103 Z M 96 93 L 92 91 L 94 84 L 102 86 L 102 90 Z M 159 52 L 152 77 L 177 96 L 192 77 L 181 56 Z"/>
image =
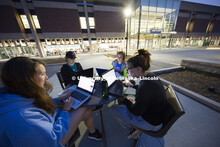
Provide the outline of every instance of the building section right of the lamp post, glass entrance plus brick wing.
<path id="1" fill-rule="evenodd" d="M 220 45 L 217 6 L 181 0 L 136 0 L 128 19 L 131 50 Z"/>

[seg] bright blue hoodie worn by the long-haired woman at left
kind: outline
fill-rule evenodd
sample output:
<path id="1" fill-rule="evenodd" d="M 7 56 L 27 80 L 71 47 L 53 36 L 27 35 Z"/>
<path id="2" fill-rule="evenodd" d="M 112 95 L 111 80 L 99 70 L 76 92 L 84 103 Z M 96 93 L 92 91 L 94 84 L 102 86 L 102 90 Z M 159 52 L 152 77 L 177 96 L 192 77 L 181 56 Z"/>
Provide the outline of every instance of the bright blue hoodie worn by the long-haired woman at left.
<path id="1" fill-rule="evenodd" d="M 61 111 L 59 116 L 57 112 L 52 116 L 33 102 L 15 94 L 0 94 L 0 147 L 61 146 L 69 129 L 70 113 Z"/>

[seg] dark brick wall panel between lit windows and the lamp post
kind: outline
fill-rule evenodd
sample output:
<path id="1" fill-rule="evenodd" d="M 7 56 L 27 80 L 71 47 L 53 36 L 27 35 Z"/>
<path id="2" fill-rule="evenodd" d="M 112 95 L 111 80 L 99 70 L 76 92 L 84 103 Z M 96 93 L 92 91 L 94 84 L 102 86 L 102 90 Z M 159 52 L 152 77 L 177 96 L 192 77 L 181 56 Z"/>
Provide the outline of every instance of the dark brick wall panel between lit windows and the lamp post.
<path id="1" fill-rule="evenodd" d="M 96 32 L 124 32 L 125 19 L 120 12 L 95 11 Z"/>

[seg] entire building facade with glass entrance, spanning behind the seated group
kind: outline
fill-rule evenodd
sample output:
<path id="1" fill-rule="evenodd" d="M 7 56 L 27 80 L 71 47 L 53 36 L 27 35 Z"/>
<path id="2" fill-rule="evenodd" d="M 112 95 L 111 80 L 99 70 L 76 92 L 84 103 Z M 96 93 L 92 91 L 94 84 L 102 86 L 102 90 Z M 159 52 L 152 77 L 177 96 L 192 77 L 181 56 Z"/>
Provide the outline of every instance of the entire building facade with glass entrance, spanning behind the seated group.
<path id="1" fill-rule="evenodd" d="M 0 59 L 220 41 L 220 7 L 181 0 L 1 0 L 0 12 Z"/>

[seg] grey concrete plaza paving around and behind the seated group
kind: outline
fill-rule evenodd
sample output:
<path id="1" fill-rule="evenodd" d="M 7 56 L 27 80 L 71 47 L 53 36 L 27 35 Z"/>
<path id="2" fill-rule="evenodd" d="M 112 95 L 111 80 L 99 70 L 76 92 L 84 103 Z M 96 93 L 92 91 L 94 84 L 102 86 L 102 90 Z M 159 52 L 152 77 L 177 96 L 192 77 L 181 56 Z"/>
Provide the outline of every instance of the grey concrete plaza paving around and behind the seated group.
<path id="1" fill-rule="evenodd" d="M 204 49 L 181 49 L 181 50 L 164 50 L 152 51 L 152 66 L 151 70 L 159 70 L 179 66 L 183 58 L 200 58 L 204 60 L 220 60 L 220 50 L 204 50 Z M 112 59 L 103 54 L 94 55 L 79 55 L 80 62 L 84 69 L 90 67 L 109 68 Z M 61 65 L 48 66 L 47 70 L 59 70 Z M 56 70 L 55 70 L 56 69 Z M 54 85 L 52 96 L 62 91 L 56 75 L 52 75 L 49 79 Z M 179 92 L 176 92 L 180 99 L 186 114 L 184 114 L 165 135 L 166 147 L 218 147 L 220 145 L 220 113 L 187 97 Z M 127 139 L 128 130 L 124 130 L 113 118 L 109 107 L 112 103 L 103 107 L 103 117 L 106 132 L 106 141 L 108 147 L 132 147 L 134 140 Z M 101 130 L 101 121 L 99 112 L 94 112 L 95 126 Z M 103 146 L 101 141 L 93 141 L 87 138 L 88 131 L 84 123 L 80 124 L 81 136 L 76 141 L 76 146 L 87 147 Z M 147 137 L 145 137 L 147 138 Z M 148 138 L 147 146 L 151 146 L 151 142 L 158 142 L 157 139 Z"/>

